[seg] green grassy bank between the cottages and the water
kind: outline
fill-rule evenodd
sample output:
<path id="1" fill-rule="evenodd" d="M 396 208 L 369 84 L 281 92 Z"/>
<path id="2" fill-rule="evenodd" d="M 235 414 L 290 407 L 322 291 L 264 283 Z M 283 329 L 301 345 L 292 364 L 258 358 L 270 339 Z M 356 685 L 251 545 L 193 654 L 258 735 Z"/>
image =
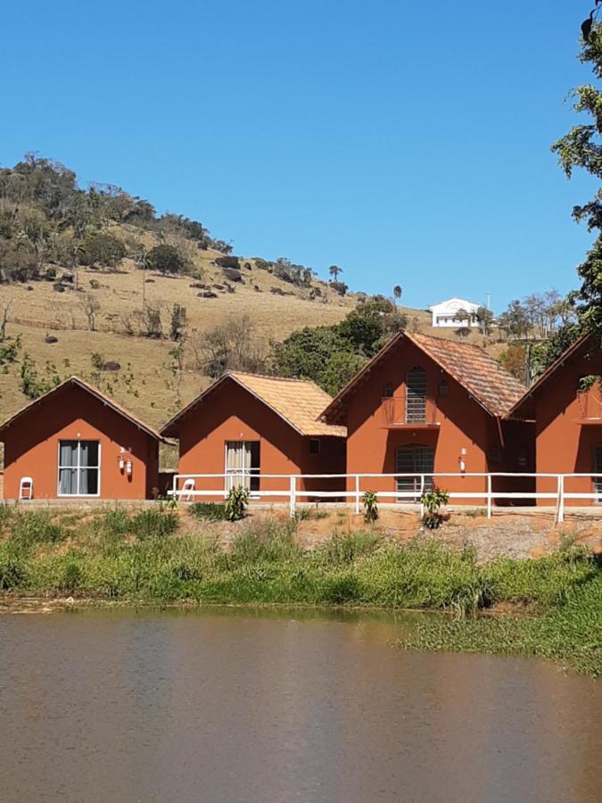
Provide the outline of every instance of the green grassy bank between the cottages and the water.
<path id="1" fill-rule="evenodd" d="M 401 646 L 536 655 L 602 675 L 602 569 L 582 548 L 483 566 L 436 537 L 400 544 L 373 530 L 335 533 L 309 551 L 293 519 L 245 522 L 222 549 L 207 529 L 178 534 L 177 514 L 160 506 L 79 522 L 45 510 L 0 515 L 4 593 L 447 610 L 454 616 L 425 619 Z M 500 603 L 519 614 L 474 616 Z"/>

